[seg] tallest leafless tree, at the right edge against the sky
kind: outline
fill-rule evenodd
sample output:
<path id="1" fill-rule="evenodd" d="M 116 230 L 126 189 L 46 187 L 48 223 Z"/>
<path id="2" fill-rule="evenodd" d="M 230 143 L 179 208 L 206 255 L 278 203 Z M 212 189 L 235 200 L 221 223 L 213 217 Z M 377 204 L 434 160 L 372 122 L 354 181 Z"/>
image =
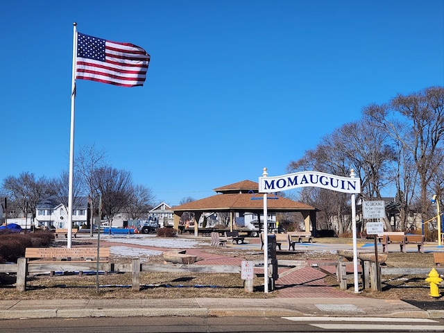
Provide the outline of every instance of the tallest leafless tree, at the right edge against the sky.
<path id="1" fill-rule="evenodd" d="M 398 95 L 386 105 L 364 110 L 379 128 L 398 141 L 411 155 L 420 187 L 420 213 L 430 209 L 429 185 L 443 162 L 444 88 L 429 87 L 407 96 Z M 404 123 L 400 126 L 400 117 Z"/>

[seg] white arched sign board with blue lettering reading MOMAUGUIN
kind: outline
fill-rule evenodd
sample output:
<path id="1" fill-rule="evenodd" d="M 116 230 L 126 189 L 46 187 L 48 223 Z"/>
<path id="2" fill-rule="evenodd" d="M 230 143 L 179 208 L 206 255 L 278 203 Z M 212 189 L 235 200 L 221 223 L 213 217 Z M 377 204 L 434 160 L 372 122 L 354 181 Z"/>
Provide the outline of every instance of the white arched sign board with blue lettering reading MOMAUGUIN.
<path id="1" fill-rule="evenodd" d="M 361 180 L 317 171 L 302 171 L 283 176 L 259 177 L 259 193 L 273 193 L 298 187 L 321 187 L 332 191 L 361 193 Z"/>

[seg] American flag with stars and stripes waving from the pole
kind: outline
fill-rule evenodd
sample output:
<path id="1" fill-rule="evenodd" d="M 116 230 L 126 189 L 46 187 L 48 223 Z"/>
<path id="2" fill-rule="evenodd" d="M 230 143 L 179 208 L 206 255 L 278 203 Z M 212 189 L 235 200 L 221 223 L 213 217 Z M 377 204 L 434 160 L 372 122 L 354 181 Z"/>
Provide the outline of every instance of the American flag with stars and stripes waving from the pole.
<path id="1" fill-rule="evenodd" d="M 150 55 L 130 43 L 77 34 L 76 78 L 123 87 L 143 85 Z"/>

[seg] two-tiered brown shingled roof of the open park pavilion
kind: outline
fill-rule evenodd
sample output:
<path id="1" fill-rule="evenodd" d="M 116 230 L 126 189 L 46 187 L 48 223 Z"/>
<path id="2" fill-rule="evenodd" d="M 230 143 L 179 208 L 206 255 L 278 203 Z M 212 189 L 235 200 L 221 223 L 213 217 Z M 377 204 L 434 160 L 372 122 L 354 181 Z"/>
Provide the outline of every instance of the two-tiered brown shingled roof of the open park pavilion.
<path id="1" fill-rule="evenodd" d="M 200 200 L 191 201 L 183 205 L 173 207 L 175 212 L 223 212 L 223 211 L 257 211 L 264 208 L 264 196 L 258 194 L 259 184 L 251 180 L 235 182 L 231 185 L 218 187 L 214 191 L 221 192 Z M 251 191 L 250 193 L 248 193 Z M 268 211 L 273 212 L 300 212 L 302 210 L 316 210 L 316 208 L 298 203 L 283 196 L 268 194 Z"/>

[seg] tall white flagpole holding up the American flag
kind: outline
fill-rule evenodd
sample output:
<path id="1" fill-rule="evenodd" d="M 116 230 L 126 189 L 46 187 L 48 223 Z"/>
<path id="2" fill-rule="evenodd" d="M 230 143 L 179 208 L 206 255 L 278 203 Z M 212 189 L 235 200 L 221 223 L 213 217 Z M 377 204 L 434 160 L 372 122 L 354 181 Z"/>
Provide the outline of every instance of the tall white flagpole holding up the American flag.
<path id="1" fill-rule="evenodd" d="M 74 22 L 74 37 L 72 46 L 72 78 L 71 78 L 71 135 L 69 137 L 69 194 L 68 194 L 68 244 L 72 243 L 72 209 L 73 209 L 73 179 L 74 179 L 74 110 L 76 109 L 76 57 L 77 57 L 77 24 Z"/>

